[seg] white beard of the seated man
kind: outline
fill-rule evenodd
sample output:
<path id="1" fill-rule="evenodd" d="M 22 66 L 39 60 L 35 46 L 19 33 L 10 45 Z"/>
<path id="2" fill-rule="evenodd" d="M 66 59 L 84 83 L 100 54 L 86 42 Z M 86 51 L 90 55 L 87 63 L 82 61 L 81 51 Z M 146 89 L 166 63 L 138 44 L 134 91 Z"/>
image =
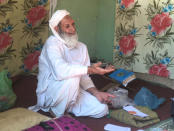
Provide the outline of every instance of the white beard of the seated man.
<path id="1" fill-rule="evenodd" d="M 78 44 L 78 35 L 77 34 L 70 36 L 66 33 L 62 33 L 61 37 L 65 40 L 65 45 L 68 48 L 71 48 L 71 49 L 75 48 Z"/>

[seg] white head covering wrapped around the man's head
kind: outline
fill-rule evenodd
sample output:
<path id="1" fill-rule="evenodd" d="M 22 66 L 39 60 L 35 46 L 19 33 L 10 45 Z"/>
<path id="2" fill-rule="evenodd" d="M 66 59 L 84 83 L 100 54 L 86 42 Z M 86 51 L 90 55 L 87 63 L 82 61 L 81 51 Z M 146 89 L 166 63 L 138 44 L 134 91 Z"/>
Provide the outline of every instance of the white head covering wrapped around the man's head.
<path id="1" fill-rule="evenodd" d="M 59 34 L 56 32 L 56 30 L 54 29 L 59 23 L 60 21 L 67 15 L 69 15 L 70 13 L 66 10 L 57 10 L 51 17 L 51 19 L 49 20 L 49 27 L 51 28 L 52 33 L 62 42 L 65 42 L 60 36 Z"/>

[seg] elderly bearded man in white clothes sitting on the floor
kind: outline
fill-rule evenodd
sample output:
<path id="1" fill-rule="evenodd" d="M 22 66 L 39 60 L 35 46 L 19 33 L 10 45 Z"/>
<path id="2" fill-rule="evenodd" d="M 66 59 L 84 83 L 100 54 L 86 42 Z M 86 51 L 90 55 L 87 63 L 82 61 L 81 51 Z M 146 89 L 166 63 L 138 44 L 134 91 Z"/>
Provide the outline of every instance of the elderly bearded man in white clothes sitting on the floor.
<path id="1" fill-rule="evenodd" d="M 39 57 L 37 104 L 29 109 L 51 112 L 60 117 L 65 111 L 76 116 L 103 117 L 109 97 L 98 91 L 89 74 L 105 74 L 113 66 L 90 66 L 87 47 L 78 41 L 74 20 L 66 10 L 57 10 L 49 21 L 53 33 Z"/>

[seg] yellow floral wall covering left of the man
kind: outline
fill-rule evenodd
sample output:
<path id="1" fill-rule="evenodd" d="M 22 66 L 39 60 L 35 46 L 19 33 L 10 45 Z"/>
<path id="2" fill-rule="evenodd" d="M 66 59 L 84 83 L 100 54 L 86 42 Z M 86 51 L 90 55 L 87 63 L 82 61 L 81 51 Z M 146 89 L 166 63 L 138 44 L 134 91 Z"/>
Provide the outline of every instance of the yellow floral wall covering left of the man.
<path id="1" fill-rule="evenodd" d="M 48 17 L 48 0 L 0 0 L 0 71 L 37 73 Z"/>

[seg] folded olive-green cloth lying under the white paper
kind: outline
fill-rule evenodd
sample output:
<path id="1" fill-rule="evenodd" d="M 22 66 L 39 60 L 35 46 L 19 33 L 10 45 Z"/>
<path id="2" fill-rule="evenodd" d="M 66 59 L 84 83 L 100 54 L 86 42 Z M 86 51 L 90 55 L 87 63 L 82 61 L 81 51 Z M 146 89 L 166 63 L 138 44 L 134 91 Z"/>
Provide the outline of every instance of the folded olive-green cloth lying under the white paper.
<path id="1" fill-rule="evenodd" d="M 123 109 L 112 110 L 110 111 L 110 116 L 120 122 L 126 123 L 128 125 L 134 127 L 144 127 L 147 125 L 151 125 L 160 121 L 156 112 L 151 109 L 143 106 L 135 106 L 141 112 L 147 114 L 147 117 L 140 117 L 136 115 L 132 115 Z"/>

